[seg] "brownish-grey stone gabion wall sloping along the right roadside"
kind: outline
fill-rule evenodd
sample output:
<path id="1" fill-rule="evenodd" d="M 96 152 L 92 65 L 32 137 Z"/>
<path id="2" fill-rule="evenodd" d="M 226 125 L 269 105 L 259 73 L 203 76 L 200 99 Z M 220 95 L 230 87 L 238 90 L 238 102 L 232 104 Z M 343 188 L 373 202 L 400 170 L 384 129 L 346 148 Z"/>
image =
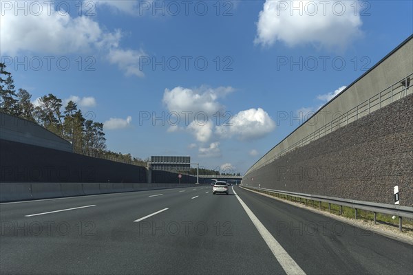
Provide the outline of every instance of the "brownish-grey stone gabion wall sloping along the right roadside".
<path id="1" fill-rule="evenodd" d="M 248 173 L 242 185 L 413 206 L 413 95 Z"/>

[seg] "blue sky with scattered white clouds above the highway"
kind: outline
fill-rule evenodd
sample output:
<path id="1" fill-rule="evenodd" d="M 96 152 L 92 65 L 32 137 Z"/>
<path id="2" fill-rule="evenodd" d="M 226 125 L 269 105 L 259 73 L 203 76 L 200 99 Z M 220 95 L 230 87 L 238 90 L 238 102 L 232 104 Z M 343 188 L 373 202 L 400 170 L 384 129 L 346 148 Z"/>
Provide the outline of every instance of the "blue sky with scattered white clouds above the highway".
<path id="1" fill-rule="evenodd" d="M 241 174 L 299 126 L 291 119 L 316 111 L 413 32 L 412 1 L 0 8 L 1 61 L 34 102 L 49 93 L 75 100 L 104 122 L 109 150 L 190 155 Z"/>

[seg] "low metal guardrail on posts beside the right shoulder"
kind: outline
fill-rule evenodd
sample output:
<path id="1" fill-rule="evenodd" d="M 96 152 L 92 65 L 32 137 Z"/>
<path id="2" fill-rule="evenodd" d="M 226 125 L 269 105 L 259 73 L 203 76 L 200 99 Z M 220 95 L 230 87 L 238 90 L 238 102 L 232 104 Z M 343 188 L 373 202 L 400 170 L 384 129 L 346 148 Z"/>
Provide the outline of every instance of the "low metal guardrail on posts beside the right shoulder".
<path id="1" fill-rule="evenodd" d="M 328 203 L 328 210 L 330 210 L 330 203 L 332 204 L 337 204 L 340 206 L 340 214 L 343 213 L 343 206 L 348 206 L 350 208 L 354 208 L 355 210 L 355 219 L 357 219 L 357 210 L 366 210 L 374 213 L 374 224 L 376 224 L 377 221 L 377 213 L 382 213 L 382 214 L 392 214 L 394 216 L 399 217 L 399 230 L 402 230 L 402 218 L 409 218 L 413 219 L 413 207 L 409 206 L 398 206 L 398 205 L 392 205 L 392 204 L 385 204 L 385 203 L 374 203 L 370 201 L 357 201 L 354 199 L 341 199 L 337 197 L 328 197 L 328 196 L 321 196 L 321 195 L 310 195 L 310 194 L 304 194 L 304 193 L 299 193 L 299 192 L 289 192 L 289 191 L 283 191 L 283 190 L 273 190 L 273 189 L 267 189 L 267 188 L 256 188 L 256 187 L 248 187 L 248 186 L 242 186 L 247 189 L 252 189 L 252 190 L 258 190 L 258 191 L 265 191 L 265 192 L 273 192 L 275 194 L 279 195 L 286 195 L 287 198 L 290 196 L 291 200 L 293 197 L 295 197 L 295 201 L 297 201 L 297 198 L 301 199 L 310 199 L 313 201 L 313 206 L 314 206 L 314 201 L 319 201 L 320 203 L 320 208 L 321 208 L 321 202 L 326 202 Z"/>

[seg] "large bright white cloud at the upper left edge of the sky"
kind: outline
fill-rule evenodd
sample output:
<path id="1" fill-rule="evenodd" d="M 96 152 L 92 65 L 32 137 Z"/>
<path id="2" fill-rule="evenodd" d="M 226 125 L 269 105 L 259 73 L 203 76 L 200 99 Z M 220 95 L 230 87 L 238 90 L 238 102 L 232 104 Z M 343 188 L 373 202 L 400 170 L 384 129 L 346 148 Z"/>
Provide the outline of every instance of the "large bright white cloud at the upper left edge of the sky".
<path id="1" fill-rule="evenodd" d="M 36 52 L 47 54 L 84 53 L 102 47 L 117 46 L 120 32 L 105 32 L 91 17 L 71 17 L 53 8 L 47 14 L 14 10 L 3 11 L 0 17 L 2 54 Z"/>

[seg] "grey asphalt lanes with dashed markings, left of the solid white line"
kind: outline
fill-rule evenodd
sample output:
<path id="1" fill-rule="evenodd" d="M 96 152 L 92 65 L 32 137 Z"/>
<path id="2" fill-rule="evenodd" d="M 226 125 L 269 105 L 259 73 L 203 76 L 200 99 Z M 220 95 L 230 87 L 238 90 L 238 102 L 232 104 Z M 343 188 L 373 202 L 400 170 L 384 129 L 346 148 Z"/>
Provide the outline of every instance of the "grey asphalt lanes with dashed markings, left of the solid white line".
<path id="1" fill-rule="evenodd" d="M 86 205 L 96 206 L 25 217 Z M 0 214 L 20 226 L 3 226 L 3 274 L 284 274 L 235 196 L 210 186 L 10 203 Z"/>

